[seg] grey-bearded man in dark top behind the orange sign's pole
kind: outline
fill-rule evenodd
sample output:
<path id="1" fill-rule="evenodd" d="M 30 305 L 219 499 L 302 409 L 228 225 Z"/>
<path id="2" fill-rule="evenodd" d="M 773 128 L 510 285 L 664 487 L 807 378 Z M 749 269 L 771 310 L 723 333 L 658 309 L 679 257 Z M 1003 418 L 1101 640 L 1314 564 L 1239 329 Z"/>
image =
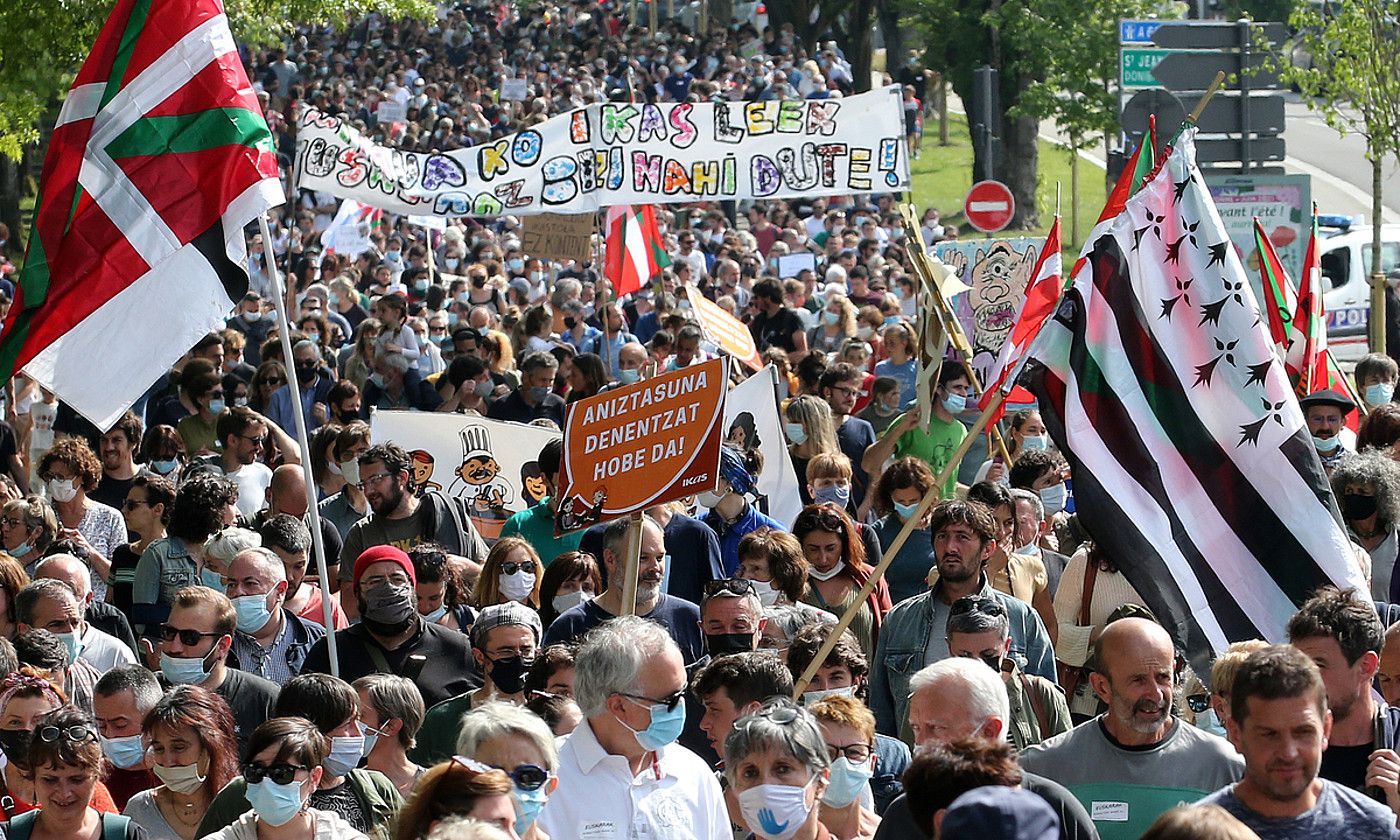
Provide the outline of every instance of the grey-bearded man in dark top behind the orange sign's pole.
<path id="1" fill-rule="evenodd" d="M 641 559 L 637 566 L 637 615 L 662 624 L 676 640 L 686 665 L 704 655 L 700 634 L 700 608 L 683 598 L 662 592 L 666 578 L 664 532 L 651 517 L 643 517 Z M 631 519 L 615 519 L 603 531 L 603 570 L 608 588 L 598 598 L 585 601 L 554 619 L 542 645 L 573 641 L 598 624 L 623 613 L 622 587 L 627 568 L 627 529 Z"/>

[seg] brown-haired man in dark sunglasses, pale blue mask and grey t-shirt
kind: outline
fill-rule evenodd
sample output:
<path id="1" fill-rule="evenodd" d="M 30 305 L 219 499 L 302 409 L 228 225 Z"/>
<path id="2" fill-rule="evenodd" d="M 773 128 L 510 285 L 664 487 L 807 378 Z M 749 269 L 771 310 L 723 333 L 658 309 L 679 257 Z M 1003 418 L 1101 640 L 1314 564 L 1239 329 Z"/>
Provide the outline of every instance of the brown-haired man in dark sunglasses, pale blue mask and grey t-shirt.
<path id="1" fill-rule="evenodd" d="M 277 683 L 225 664 L 234 644 L 238 613 L 223 592 L 185 587 L 175 594 L 161 626 L 161 676 L 167 685 L 193 685 L 223 697 L 234 713 L 238 755 L 253 729 L 272 717 Z"/>

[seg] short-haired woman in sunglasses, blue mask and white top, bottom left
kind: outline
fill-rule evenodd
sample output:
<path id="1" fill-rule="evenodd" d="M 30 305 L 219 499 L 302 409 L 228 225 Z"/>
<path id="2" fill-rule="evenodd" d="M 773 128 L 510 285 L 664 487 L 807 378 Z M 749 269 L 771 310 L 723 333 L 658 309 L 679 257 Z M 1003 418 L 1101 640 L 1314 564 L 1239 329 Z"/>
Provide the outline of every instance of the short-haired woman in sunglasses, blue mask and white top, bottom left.
<path id="1" fill-rule="evenodd" d="M 259 725 L 248 739 L 249 759 L 241 777 L 252 809 L 207 837 L 365 840 L 339 813 L 309 804 L 329 753 L 330 741 L 311 721 L 280 717 Z"/>

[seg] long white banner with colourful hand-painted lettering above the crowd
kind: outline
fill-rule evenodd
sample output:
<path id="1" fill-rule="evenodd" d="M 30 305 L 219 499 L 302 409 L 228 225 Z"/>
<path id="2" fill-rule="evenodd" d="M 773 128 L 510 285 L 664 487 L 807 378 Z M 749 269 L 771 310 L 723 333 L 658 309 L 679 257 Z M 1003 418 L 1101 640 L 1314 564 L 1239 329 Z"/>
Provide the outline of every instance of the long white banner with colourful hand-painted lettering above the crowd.
<path id="1" fill-rule="evenodd" d="M 595 104 L 445 154 L 379 146 L 315 109 L 301 186 L 417 216 L 910 189 L 899 87 L 844 99 Z"/>

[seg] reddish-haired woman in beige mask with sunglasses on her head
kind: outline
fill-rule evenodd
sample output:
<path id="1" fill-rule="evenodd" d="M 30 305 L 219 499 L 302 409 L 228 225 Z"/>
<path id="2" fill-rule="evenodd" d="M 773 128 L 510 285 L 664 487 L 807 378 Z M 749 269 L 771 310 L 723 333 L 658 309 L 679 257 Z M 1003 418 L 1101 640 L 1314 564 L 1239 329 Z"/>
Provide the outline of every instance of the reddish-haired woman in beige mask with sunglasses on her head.
<path id="1" fill-rule="evenodd" d="M 161 780 L 126 804 L 151 840 L 195 840 L 214 795 L 238 773 L 234 713 L 199 686 L 175 686 L 141 722 L 151 773 Z"/>

